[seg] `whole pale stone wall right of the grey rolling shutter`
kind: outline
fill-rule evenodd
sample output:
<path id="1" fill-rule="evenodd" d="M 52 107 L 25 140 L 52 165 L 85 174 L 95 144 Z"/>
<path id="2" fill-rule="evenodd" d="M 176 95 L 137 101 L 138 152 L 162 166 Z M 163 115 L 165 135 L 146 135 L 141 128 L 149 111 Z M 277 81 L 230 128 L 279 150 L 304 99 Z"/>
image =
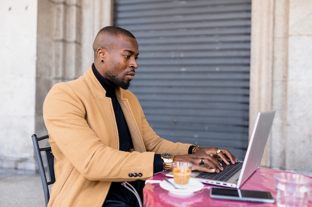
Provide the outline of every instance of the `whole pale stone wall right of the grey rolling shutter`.
<path id="1" fill-rule="evenodd" d="M 253 0 L 250 66 L 250 125 L 258 111 L 277 110 L 261 165 L 309 176 L 311 10 L 311 0 Z"/>

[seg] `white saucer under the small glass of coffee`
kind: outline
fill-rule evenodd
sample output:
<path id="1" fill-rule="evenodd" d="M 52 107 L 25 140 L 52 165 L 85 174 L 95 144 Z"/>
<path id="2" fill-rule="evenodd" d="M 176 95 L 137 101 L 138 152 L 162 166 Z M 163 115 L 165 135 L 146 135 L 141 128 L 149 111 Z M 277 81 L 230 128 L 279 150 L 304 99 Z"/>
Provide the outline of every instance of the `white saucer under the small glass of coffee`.
<path id="1" fill-rule="evenodd" d="M 174 183 L 173 178 L 168 179 L 171 183 Z M 189 183 L 185 185 L 186 189 L 175 189 L 173 186 L 171 186 L 169 183 L 166 181 L 161 181 L 159 183 L 159 186 L 164 189 L 169 191 L 172 194 L 175 195 L 190 195 L 196 191 L 200 191 L 201 189 L 204 188 L 204 185 L 200 183 L 199 181 L 196 181 L 194 179 L 189 179 Z"/>

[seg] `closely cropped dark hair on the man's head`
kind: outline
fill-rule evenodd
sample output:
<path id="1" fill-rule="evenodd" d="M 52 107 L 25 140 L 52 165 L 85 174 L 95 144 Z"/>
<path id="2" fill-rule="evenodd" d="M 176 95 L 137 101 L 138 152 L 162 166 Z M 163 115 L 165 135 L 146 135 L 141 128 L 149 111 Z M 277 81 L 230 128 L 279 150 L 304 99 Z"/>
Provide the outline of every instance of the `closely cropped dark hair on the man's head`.
<path id="1" fill-rule="evenodd" d="M 107 26 L 99 31 L 96 35 L 94 43 L 93 43 L 93 51 L 96 56 L 96 51 L 98 48 L 109 49 L 112 46 L 113 37 L 117 37 L 119 35 L 124 35 L 127 37 L 132 37 L 136 39 L 136 37 L 128 30 L 117 27 L 117 26 Z"/>

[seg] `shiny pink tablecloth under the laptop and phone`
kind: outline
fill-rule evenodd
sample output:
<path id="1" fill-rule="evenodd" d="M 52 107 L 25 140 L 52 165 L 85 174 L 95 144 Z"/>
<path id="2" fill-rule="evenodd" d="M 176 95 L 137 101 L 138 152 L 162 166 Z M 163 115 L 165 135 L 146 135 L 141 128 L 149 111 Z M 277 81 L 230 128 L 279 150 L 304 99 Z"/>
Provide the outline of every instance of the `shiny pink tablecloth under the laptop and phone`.
<path id="1" fill-rule="evenodd" d="M 273 175 L 282 171 L 268 168 L 259 168 L 244 183 L 240 189 L 269 191 L 276 196 Z M 162 180 L 165 173 L 158 173 L 151 182 L 147 183 L 143 189 L 144 207 L 276 207 L 276 204 L 262 204 L 251 202 L 227 201 L 210 199 L 209 193 L 213 185 L 204 184 L 201 191 L 189 196 L 177 196 L 162 189 L 157 181 Z M 312 207 L 312 188 L 310 191 L 309 207 Z"/>

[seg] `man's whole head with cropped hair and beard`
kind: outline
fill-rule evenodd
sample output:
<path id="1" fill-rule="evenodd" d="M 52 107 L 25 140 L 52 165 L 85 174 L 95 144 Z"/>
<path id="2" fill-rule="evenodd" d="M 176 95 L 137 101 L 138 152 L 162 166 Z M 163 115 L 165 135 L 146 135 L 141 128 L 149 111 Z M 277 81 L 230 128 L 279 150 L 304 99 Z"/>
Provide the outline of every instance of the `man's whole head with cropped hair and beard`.
<path id="1" fill-rule="evenodd" d="M 96 35 L 93 50 L 94 66 L 101 76 L 128 89 L 139 67 L 139 45 L 135 36 L 126 29 L 107 26 Z"/>

